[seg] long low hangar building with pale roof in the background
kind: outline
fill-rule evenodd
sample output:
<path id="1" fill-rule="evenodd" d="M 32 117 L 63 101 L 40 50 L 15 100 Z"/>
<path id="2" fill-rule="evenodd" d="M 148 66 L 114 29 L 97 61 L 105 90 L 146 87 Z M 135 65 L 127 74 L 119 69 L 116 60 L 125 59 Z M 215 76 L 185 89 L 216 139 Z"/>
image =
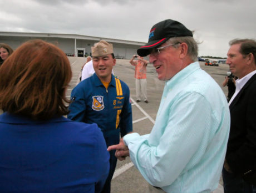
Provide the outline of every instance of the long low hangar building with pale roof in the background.
<path id="1" fill-rule="evenodd" d="M 22 43 L 31 39 L 42 39 L 53 43 L 63 50 L 68 56 L 86 57 L 91 55 L 91 47 L 100 40 L 106 40 L 114 46 L 117 59 L 130 59 L 136 54 L 137 48 L 145 42 L 133 42 L 129 40 L 92 37 L 76 34 L 55 33 L 27 33 L 27 32 L 0 32 L 0 43 L 6 43 L 16 49 Z"/>

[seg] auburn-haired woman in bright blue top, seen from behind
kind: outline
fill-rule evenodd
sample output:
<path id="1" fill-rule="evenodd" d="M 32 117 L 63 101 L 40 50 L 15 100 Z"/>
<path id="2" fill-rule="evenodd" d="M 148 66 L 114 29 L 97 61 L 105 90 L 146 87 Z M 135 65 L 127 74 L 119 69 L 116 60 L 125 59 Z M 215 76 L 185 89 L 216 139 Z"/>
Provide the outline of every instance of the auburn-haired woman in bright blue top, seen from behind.
<path id="1" fill-rule="evenodd" d="M 43 40 L 1 66 L 1 192 L 101 191 L 109 153 L 100 128 L 63 117 L 71 77 L 65 53 Z"/>

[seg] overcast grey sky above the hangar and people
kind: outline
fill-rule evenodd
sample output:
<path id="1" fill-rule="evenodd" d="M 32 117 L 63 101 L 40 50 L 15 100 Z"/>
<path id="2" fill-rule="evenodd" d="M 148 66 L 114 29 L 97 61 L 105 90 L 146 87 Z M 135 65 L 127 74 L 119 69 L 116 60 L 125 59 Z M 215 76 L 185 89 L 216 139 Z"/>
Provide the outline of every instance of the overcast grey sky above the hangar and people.
<path id="1" fill-rule="evenodd" d="M 199 55 L 226 57 L 234 38 L 256 39 L 255 0 L 0 0 L 0 31 L 90 35 L 147 42 L 164 19 L 183 23 Z"/>

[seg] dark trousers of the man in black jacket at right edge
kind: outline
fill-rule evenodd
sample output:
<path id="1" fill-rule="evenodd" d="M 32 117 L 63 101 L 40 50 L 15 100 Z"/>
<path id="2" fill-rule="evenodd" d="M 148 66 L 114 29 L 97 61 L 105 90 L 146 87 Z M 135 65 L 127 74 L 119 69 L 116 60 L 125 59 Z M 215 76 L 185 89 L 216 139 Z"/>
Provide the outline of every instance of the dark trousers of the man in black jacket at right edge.
<path id="1" fill-rule="evenodd" d="M 222 177 L 225 193 L 256 193 L 255 186 L 245 182 L 242 177 L 226 171 L 224 167 L 222 170 Z"/>

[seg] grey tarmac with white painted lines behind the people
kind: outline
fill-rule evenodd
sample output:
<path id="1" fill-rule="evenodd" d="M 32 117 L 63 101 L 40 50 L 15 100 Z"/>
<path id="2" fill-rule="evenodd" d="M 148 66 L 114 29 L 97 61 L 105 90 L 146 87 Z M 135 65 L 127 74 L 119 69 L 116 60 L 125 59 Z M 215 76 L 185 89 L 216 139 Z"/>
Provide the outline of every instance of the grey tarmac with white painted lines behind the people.
<path id="1" fill-rule="evenodd" d="M 80 70 L 85 63 L 85 58 L 68 57 L 70 59 L 73 77 L 70 86 L 67 90 L 67 97 L 70 97 L 72 89 L 77 83 L 79 83 L 78 78 L 80 77 Z M 229 67 L 227 64 L 219 64 L 219 67 L 209 67 L 205 66 L 204 62 L 200 62 L 200 66 L 203 70 L 211 75 L 214 80 L 220 85 L 224 94 L 227 96 L 228 88 L 222 87 L 222 82 L 227 75 Z M 133 120 L 133 130 L 140 135 L 150 133 L 156 119 L 156 113 L 159 108 L 161 95 L 163 93 L 164 82 L 157 79 L 157 74 L 155 68 L 152 64 L 147 65 L 147 100 L 148 104 L 144 101 L 136 103 L 136 90 L 135 90 L 135 78 L 134 70 L 129 60 L 127 59 L 117 59 L 116 65 L 114 67 L 114 73 L 117 77 L 123 80 L 130 88 L 130 96 L 132 101 L 132 120 Z M 223 181 L 220 179 L 219 187 L 214 191 L 214 193 L 222 193 L 223 191 Z M 130 158 L 126 158 L 124 161 L 117 161 L 117 166 L 115 174 L 111 182 L 111 192 L 132 192 L 139 193 L 145 192 L 147 187 L 147 182 L 141 176 L 140 172 L 132 164 Z"/>

